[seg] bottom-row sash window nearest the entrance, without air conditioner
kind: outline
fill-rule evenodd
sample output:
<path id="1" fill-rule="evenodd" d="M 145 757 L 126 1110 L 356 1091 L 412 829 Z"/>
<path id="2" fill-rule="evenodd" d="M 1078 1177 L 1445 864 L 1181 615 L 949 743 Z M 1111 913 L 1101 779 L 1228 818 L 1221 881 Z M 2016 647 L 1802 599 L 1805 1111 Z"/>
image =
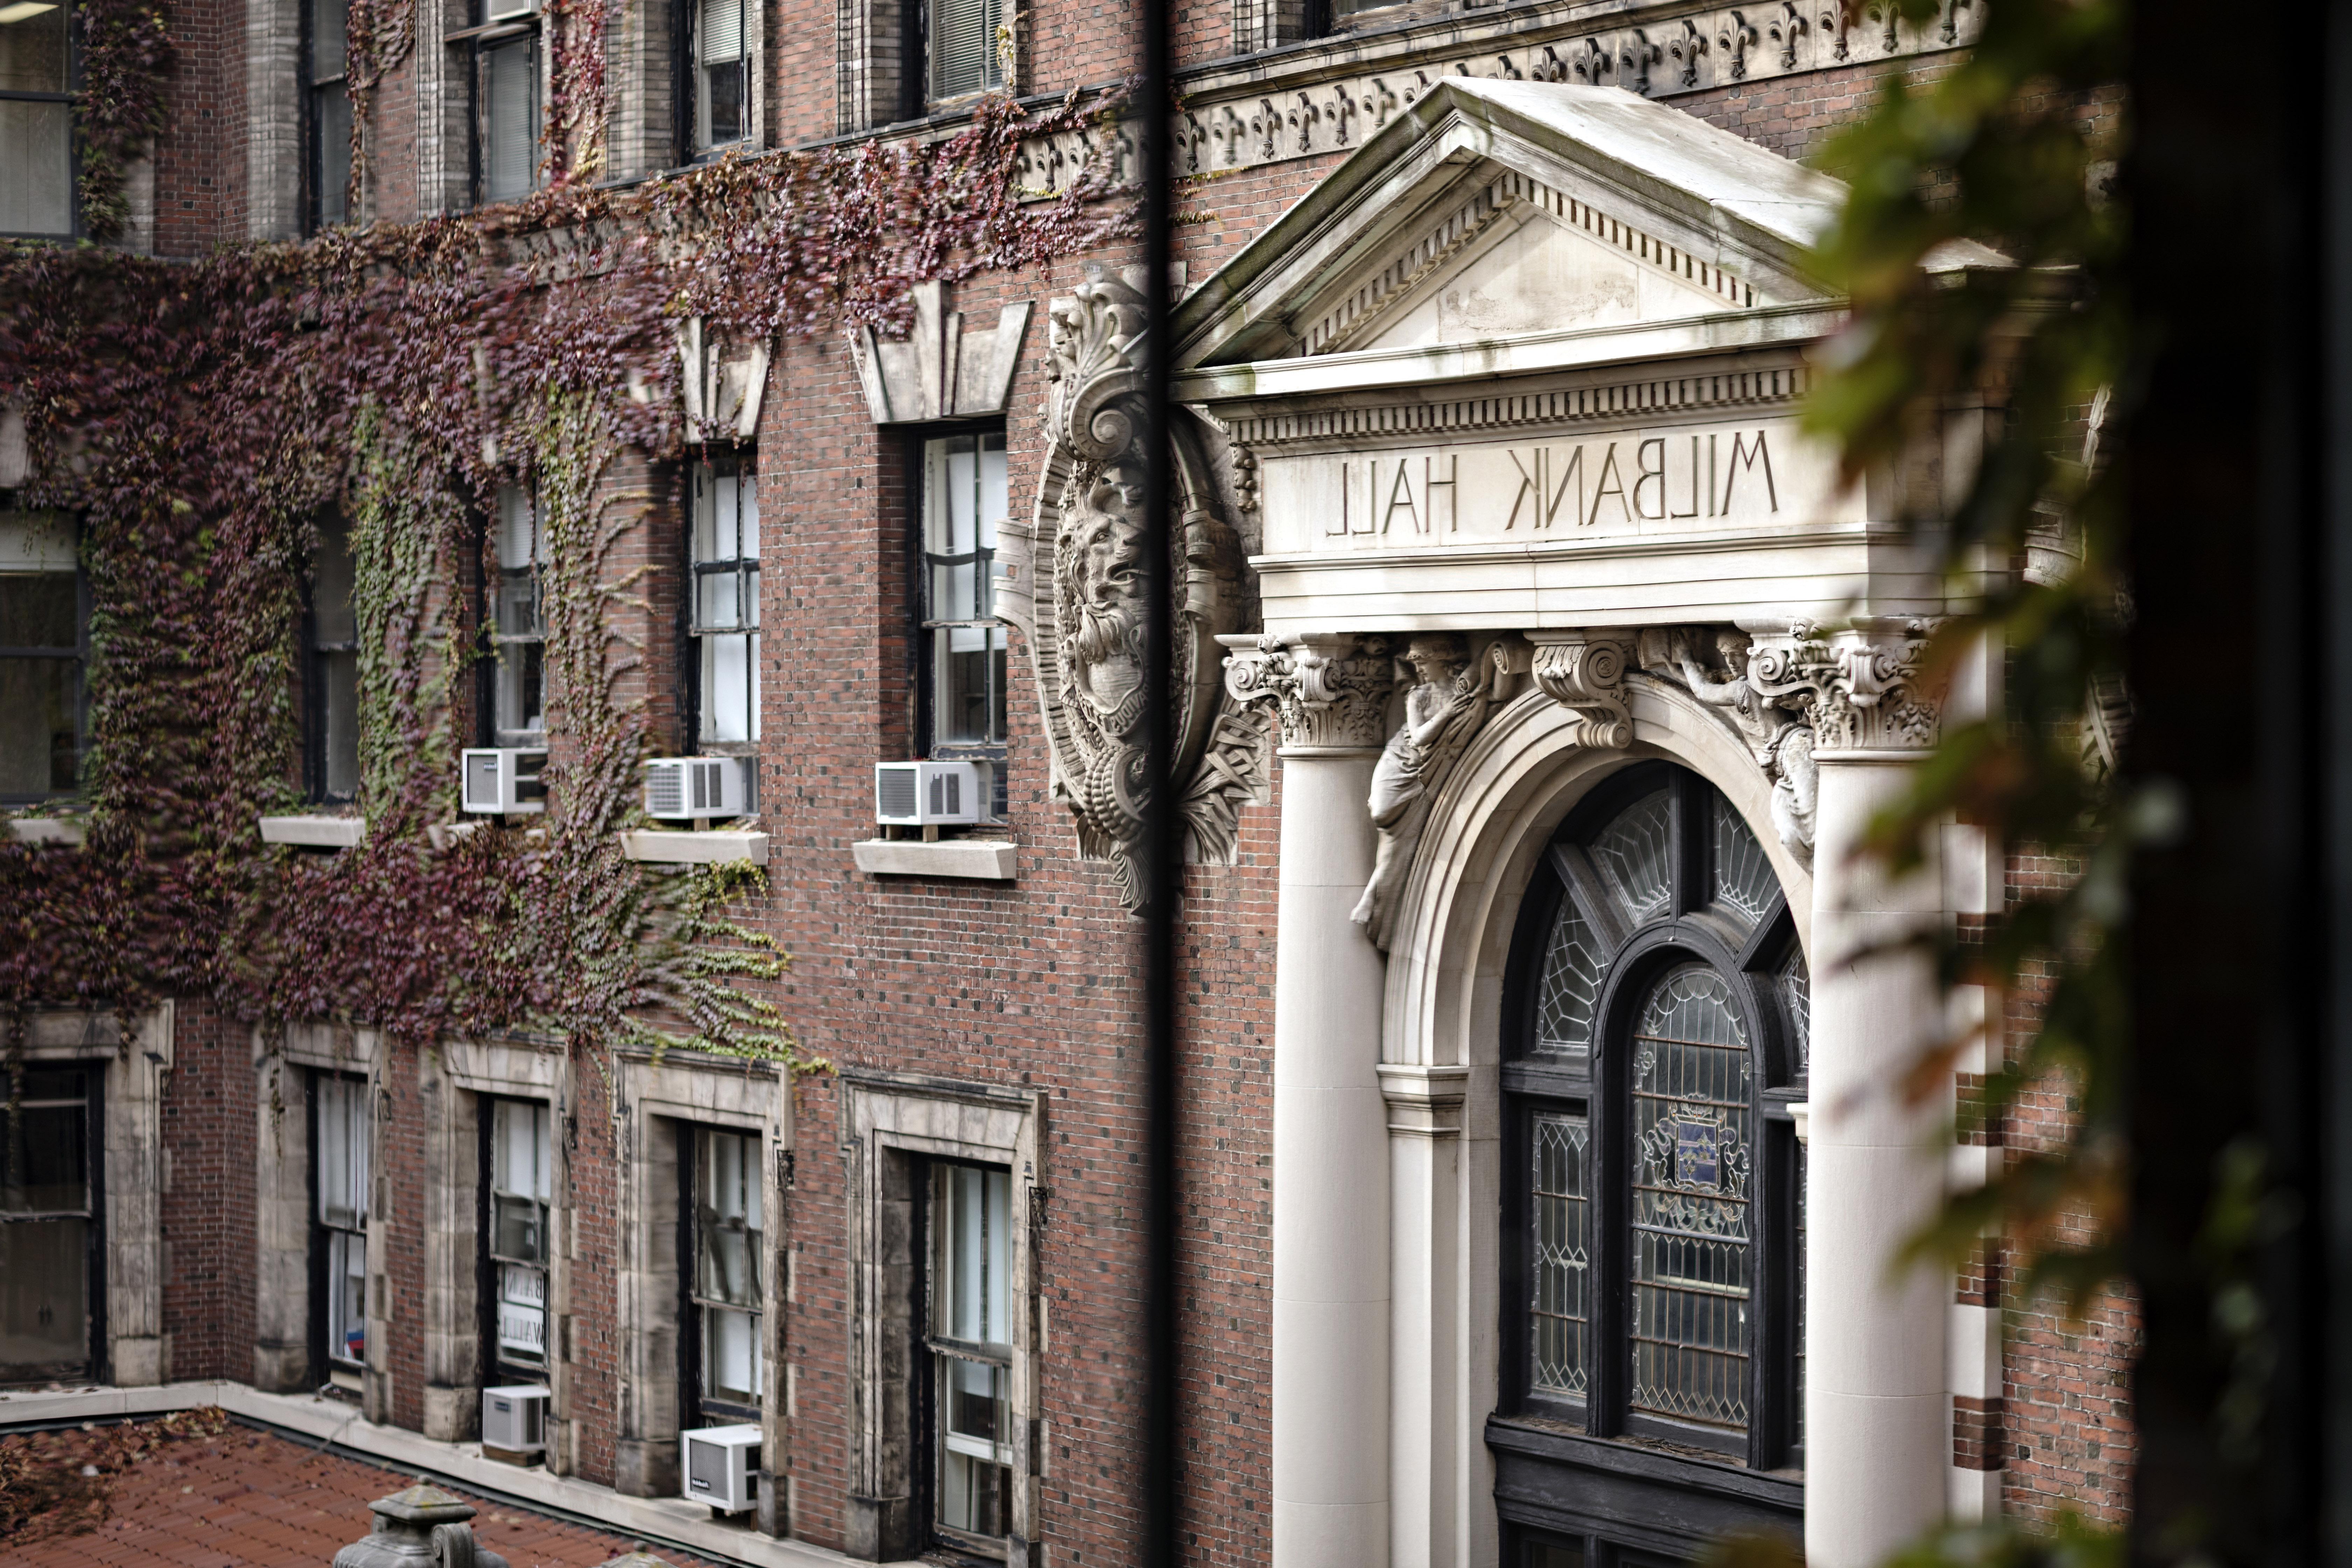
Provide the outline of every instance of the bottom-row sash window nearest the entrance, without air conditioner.
<path id="1" fill-rule="evenodd" d="M 929 1194 L 934 1523 L 948 1544 L 1011 1528 L 1011 1171 L 938 1161 Z"/>

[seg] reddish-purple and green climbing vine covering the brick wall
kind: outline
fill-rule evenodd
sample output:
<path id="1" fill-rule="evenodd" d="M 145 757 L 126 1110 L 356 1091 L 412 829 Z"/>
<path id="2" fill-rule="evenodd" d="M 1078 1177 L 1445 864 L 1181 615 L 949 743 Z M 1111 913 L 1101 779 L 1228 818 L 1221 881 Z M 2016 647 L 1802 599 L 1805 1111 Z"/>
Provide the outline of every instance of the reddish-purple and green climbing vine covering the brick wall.
<path id="1" fill-rule="evenodd" d="M 193 266 L 0 256 L 0 386 L 31 458 L 14 501 L 78 520 L 92 595 L 87 842 L 0 839 L 0 1009 L 209 994 L 407 1041 L 527 1027 L 797 1060 L 743 985 L 786 964 L 731 914 L 764 875 L 621 849 L 652 745 L 616 630 L 647 569 L 621 545 L 659 503 L 649 463 L 684 451 L 677 317 L 734 341 L 891 327 L 920 280 L 1129 237 L 1098 176 L 1014 195 L 1021 141 L 1080 115 L 990 101 L 927 148 L 555 183 Z M 468 830 L 466 604 L 501 484 L 539 515 L 555 748 L 543 816 Z M 299 806 L 301 581 L 327 515 L 350 529 L 367 835 L 318 856 L 256 818 Z"/>

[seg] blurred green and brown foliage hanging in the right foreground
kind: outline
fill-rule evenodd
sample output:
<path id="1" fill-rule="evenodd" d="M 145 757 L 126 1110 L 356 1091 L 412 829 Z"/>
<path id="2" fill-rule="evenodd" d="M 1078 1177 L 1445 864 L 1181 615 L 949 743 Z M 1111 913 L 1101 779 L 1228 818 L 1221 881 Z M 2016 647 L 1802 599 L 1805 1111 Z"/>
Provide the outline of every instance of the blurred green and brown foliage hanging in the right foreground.
<path id="1" fill-rule="evenodd" d="M 1933 0 L 1896 2 L 1915 24 L 1936 14 Z M 1990 1185 L 1955 1194 L 1905 1262 L 1950 1267 L 2002 1234 L 2011 1300 L 2053 1291 L 2070 1312 L 2124 1276 L 2126 875 L 2133 846 L 2178 818 L 2169 797 L 2114 780 L 2131 602 L 2122 484 L 2100 449 L 2114 449 L 2133 407 L 2129 221 L 2112 193 L 2126 21 L 2122 0 L 1999 0 L 1945 75 L 1891 75 L 1870 115 L 1837 136 L 1820 162 L 1851 197 L 1818 259 L 1853 315 L 1823 355 L 1809 409 L 1849 477 L 1917 465 L 1980 433 L 1966 494 L 1952 496 L 1950 480 L 1917 487 L 1922 510 L 1907 522 L 1940 538 L 1955 602 L 1973 602 L 1938 625 L 1931 672 L 1950 675 L 1990 644 L 2004 654 L 2002 701 L 1992 712 L 1947 710 L 1940 745 L 1907 799 L 1875 823 L 1870 851 L 1898 870 L 1917 865 L 1938 825 L 1957 818 L 2060 870 L 2058 886 L 2025 891 L 1983 929 L 1964 922 L 1938 938 L 1938 959 L 1947 987 L 1987 987 L 1994 1020 L 1999 999 L 2020 990 L 2037 1013 L 1962 1095 L 1957 1133 L 1999 1131 L 2053 1079 L 2074 1117 L 2030 1147 L 2006 1140 Z M 1900 1093 L 1936 1093 L 1971 1067 L 1978 1041 L 1980 1030 L 1940 1041 Z M 2096 1568 L 2122 1554 L 2119 1535 L 2067 1519 L 2046 1533 L 1940 1530 L 1893 1566 Z M 1802 1556 L 1750 1540 L 1710 1561 Z"/>

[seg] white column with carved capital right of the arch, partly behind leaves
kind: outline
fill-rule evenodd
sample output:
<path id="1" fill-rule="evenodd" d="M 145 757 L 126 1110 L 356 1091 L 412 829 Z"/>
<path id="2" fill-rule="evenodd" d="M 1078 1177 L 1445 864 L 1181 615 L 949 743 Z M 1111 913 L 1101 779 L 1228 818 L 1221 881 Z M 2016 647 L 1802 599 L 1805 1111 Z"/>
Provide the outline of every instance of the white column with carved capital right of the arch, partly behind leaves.
<path id="1" fill-rule="evenodd" d="M 1813 726 L 1811 1135 L 1806 1143 L 1804 1549 L 1813 1568 L 1877 1568 L 1945 1512 L 1952 1458 L 1945 1328 L 1952 1281 L 1893 1272 L 1945 1192 L 1943 1095 L 1898 1079 L 1943 1027 L 1924 945 L 1943 919 L 1929 860 L 1905 877 L 1860 856 L 1872 818 L 1936 743 L 1917 689 L 1919 630 L 1766 635 L 1750 682 Z"/>

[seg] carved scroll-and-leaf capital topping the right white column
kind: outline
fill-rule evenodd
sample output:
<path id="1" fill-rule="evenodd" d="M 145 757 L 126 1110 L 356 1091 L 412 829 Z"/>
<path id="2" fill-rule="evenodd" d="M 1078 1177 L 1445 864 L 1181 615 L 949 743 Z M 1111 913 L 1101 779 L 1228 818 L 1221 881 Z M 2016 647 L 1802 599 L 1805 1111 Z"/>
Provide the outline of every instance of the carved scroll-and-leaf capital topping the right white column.
<path id="1" fill-rule="evenodd" d="M 1943 736 L 1943 679 L 1919 663 L 1931 630 L 1905 618 L 1835 630 L 1788 621 L 1755 632 L 1748 684 L 1804 715 L 1820 762 L 1915 757 Z"/>

